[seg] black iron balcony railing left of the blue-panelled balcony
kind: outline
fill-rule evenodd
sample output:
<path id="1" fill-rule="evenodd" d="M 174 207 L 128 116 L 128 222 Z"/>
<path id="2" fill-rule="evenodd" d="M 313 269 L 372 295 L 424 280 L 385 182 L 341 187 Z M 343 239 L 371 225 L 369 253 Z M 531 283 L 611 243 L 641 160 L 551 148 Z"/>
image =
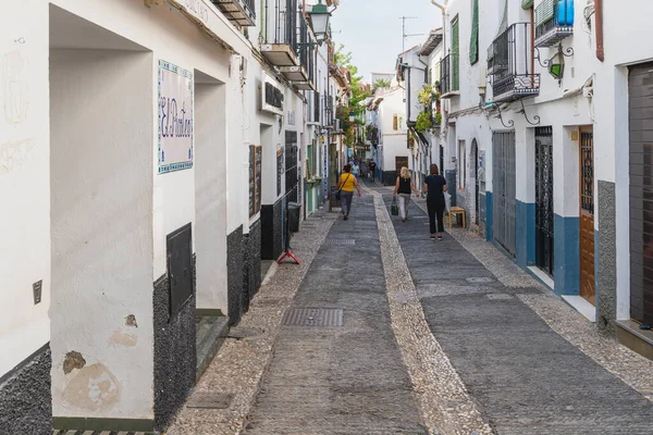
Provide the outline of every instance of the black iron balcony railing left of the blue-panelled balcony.
<path id="1" fill-rule="evenodd" d="M 540 74 L 531 69 L 531 33 L 529 23 L 513 24 L 488 49 L 488 74 L 492 77 L 495 102 L 540 94 Z"/>

